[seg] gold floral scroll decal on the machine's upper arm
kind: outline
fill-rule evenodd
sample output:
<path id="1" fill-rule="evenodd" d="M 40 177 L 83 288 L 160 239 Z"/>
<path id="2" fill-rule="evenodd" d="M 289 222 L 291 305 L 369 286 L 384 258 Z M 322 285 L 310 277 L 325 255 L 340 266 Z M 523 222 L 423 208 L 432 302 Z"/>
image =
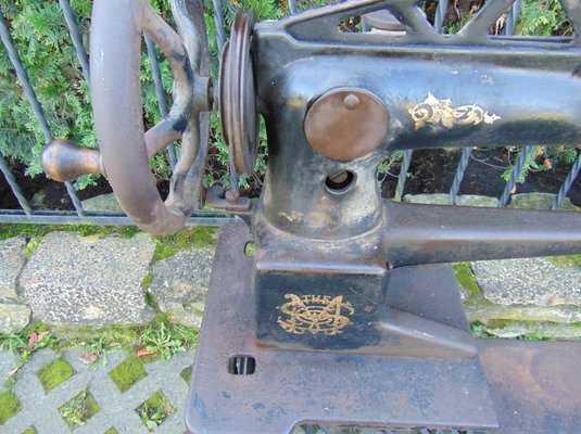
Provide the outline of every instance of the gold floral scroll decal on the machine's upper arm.
<path id="1" fill-rule="evenodd" d="M 416 123 L 416 129 L 427 124 L 443 125 L 452 128 L 454 125 L 480 125 L 494 124 L 501 116 L 491 114 L 477 104 L 452 107 L 452 100 L 439 100 L 430 92 L 426 101 L 409 110 L 412 118 Z"/>

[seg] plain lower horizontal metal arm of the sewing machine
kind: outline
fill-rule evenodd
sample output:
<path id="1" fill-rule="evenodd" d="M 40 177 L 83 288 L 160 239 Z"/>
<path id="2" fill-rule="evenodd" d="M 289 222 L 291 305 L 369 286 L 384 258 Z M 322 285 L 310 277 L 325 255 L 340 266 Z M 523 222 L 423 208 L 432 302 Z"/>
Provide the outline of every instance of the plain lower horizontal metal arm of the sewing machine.
<path id="1" fill-rule="evenodd" d="M 394 202 L 384 212 L 391 267 L 581 253 L 580 213 Z"/>

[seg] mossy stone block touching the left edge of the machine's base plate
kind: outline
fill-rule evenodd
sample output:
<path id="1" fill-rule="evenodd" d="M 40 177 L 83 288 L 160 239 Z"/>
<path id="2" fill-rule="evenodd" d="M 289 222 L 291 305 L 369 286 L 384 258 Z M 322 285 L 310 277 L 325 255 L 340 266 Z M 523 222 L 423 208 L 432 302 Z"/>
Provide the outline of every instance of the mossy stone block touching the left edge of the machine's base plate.
<path id="1" fill-rule="evenodd" d="M 160 309 L 177 322 L 200 327 L 213 261 L 214 248 L 207 247 L 185 250 L 154 264 L 149 291 Z"/>

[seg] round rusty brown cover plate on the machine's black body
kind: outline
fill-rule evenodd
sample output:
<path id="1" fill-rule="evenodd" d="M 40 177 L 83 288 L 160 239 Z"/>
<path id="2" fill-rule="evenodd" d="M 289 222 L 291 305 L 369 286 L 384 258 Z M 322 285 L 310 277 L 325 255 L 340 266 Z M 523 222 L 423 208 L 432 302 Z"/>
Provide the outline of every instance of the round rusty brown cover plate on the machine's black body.
<path id="1" fill-rule="evenodd" d="M 361 89 L 333 89 L 306 112 L 306 140 L 319 154 L 351 161 L 375 151 L 386 139 L 388 111 L 381 101 Z"/>

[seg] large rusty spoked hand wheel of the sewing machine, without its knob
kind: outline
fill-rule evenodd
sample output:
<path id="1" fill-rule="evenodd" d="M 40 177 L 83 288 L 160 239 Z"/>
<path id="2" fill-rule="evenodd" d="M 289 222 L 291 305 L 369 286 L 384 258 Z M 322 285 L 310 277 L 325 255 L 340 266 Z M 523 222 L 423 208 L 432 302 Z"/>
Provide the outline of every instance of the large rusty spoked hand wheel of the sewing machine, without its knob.
<path id="1" fill-rule="evenodd" d="M 210 79 L 203 11 L 199 2 L 174 0 L 178 36 L 147 0 L 97 0 L 91 31 L 91 85 L 102 165 L 127 215 L 141 229 L 169 233 L 200 201 L 207 153 Z M 170 61 L 174 104 L 144 132 L 140 62 L 146 31 Z M 149 158 L 182 138 L 181 154 L 165 203 Z"/>

